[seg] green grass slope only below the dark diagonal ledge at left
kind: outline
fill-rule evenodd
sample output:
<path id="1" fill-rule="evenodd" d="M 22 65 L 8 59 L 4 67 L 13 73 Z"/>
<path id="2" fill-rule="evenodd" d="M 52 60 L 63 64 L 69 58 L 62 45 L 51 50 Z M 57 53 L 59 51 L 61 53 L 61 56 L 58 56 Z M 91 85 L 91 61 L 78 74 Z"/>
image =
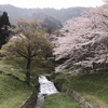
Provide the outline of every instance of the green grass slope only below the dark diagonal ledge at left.
<path id="1" fill-rule="evenodd" d="M 19 108 L 31 91 L 25 82 L 0 73 L 0 108 Z"/>

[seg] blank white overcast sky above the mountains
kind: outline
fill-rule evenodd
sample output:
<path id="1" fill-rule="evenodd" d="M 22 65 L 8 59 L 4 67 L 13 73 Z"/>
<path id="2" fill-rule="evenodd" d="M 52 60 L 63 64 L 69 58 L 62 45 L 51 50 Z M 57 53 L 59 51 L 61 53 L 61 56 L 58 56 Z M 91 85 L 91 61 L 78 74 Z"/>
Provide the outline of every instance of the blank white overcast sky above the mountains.
<path id="1" fill-rule="evenodd" d="M 0 0 L 0 4 L 12 4 L 18 8 L 70 8 L 97 6 L 103 0 Z"/>

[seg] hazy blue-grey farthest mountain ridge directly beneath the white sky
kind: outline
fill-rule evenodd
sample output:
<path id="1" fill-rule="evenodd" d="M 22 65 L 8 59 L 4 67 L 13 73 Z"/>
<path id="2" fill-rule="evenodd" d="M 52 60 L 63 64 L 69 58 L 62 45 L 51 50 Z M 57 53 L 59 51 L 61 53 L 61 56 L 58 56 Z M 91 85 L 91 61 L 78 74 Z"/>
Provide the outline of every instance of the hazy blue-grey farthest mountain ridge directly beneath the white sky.
<path id="1" fill-rule="evenodd" d="M 68 9 L 21 9 L 10 4 L 0 5 L 0 10 L 6 11 L 11 22 L 14 22 L 16 18 L 24 17 L 26 19 L 38 18 L 43 21 L 46 17 L 54 17 L 60 22 L 66 22 L 72 17 L 80 16 L 89 8 L 68 8 Z"/>

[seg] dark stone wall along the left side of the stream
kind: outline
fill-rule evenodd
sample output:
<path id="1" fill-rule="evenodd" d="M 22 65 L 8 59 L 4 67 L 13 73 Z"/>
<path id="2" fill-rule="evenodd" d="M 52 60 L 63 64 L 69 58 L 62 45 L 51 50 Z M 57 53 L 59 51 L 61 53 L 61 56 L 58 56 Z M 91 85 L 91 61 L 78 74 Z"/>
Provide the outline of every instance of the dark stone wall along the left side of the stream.
<path id="1" fill-rule="evenodd" d="M 37 103 L 37 90 L 32 91 L 32 94 L 25 100 L 19 108 L 33 108 Z"/>

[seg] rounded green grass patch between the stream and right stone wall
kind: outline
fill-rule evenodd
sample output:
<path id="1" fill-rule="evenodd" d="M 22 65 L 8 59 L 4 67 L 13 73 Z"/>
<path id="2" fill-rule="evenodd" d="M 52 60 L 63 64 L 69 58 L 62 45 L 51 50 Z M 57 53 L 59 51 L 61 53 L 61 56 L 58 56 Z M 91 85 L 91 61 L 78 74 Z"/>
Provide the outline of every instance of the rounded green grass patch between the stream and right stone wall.
<path id="1" fill-rule="evenodd" d="M 80 108 L 80 106 L 67 94 L 58 93 L 48 96 L 42 108 Z"/>

